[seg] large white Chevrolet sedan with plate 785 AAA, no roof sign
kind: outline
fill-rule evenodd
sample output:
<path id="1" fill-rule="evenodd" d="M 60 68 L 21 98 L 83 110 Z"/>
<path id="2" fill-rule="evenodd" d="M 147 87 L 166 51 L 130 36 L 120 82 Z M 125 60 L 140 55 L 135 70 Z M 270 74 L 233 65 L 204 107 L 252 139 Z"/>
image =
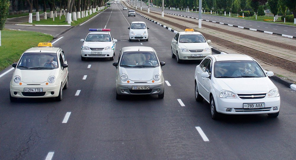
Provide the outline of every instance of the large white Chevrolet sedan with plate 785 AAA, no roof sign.
<path id="1" fill-rule="evenodd" d="M 211 115 L 268 114 L 277 117 L 280 109 L 278 88 L 250 56 L 210 55 L 196 66 L 195 99 L 210 103 Z"/>

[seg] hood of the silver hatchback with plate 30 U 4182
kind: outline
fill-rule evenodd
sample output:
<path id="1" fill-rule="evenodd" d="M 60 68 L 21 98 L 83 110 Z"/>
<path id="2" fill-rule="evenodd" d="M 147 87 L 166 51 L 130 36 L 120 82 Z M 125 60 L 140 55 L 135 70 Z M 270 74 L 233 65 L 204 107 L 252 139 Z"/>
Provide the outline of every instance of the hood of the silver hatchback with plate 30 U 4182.
<path id="1" fill-rule="evenodd" d="M 123 74 L 128 75 L 132 81 L 148 81 L 158 73 L 158 67 L 155 68 L 121 68 Z"/>

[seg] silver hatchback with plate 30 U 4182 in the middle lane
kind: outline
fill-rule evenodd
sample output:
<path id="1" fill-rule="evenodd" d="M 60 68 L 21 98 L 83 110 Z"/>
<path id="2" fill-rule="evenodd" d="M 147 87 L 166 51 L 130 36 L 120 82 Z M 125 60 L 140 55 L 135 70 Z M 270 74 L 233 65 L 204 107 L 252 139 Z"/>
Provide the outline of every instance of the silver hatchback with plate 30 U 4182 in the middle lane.
<path id="1" fill-rule="evenodd" d="M 164 78 L 157 53 L 152 47 L 132 46 L 120 50 L 116 67 L 116 99 L 123 95 L 152 95 L 164 97 Z"/>

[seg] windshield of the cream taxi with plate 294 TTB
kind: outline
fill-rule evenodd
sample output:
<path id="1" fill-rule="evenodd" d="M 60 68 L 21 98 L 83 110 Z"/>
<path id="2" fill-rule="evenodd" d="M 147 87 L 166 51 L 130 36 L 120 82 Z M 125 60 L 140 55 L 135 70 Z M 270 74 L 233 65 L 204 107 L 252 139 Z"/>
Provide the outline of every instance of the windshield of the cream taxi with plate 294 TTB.
<path id="1" fill-rule="evenodd" d="M 52 70 L 58 67 L 56 53 L 24 53 L 17 65 L 21 70 Z"/>

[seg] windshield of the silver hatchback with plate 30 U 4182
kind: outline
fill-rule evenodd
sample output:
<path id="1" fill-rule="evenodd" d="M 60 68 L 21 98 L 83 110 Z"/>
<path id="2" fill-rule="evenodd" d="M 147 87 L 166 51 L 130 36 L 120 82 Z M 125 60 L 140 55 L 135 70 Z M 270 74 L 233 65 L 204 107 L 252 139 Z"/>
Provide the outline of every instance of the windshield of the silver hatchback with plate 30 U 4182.
<path id="1" fill-rule="evenodd" d="M 123 52 L 121 56 L 121 67 L 158 67 L 159 63 L 154 52 L 149 51 L 133 51 Z"/>

